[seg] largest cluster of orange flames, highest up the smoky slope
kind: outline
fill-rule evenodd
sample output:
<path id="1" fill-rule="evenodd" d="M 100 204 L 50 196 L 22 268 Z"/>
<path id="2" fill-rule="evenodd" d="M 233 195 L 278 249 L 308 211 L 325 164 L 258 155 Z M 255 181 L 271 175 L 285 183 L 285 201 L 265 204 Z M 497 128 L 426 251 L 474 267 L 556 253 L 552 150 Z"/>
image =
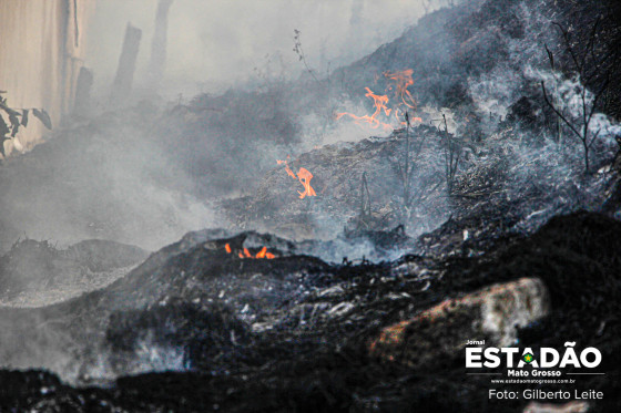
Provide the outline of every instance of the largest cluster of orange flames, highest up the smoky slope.
<path id="1" fill-rule="evenodd" d="M 393 131 L 395 128 L 394 124 L 405 126 L 404 121 L 405 113 L 408 110 L 416 110 L 416 101 L 414 100 L 409 86 L 414 85 L 414 80 L 411 78 L 414 70 L 408 69 L 403 72 L 384 72 L 384 76 L 390 80 L 390 84 L 386 89 L 386 92 L 395 91 L 395 102 L 394 107 L 388 107 L 389 97 L 388 94 L 378 95 L 375 94 L 369 87 L 365 87 L 367 93 L 365 96 L 373 99 L 373 106 L 375 109 L 374 113 L 369 115 L 358 116 L 353 113 L 342 112 L 336 114 L 336 120 L 340 120 L 343 116 L 352 117 L 357 124 L 370 125 L 374 130 L 381 126 L 386 131 Z M 393 117 L 391 117 L 393 115 Z M 378 117 L 384 117 L 386 122 L 381 122 Z M 423 122 L 420 117 L 413 117 L 413 121 Z"/>

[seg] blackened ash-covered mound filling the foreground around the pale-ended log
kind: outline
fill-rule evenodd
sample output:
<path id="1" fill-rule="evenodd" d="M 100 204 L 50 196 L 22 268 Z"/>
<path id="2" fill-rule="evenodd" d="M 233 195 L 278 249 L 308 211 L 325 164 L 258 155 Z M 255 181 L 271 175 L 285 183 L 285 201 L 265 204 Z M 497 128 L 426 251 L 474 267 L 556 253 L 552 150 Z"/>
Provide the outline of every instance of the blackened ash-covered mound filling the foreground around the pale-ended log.
<path id="1" fill-rule="evenodd" d="M 243 250 L 248 237 L 268 246 L 276 258 L 242 259 L 226 252 L 227 244 L 232 251 Z M 145 370 L 176 372 L 118 379 L 106 390 L 71 388 L 44 373 L 3 371 L 3 381 L 12 383 L 3 390 L 3 405 L 240 412 L 499 409 L 487 396 L 489 378 L 466 375 L 462 352 L 442 347 L 449 340 L 444 323 L 450 318 L 427 327 L 411 320 L 445 297 L 468 297 L 481 287 L 521 277 L 542 281 L 550 310 L 537 322 L 522 324 L 516 333 L 520 345 L 562 348 L 568 340 L 594 345 L 602 351 L 607 375 L 576 386 L 611 395 L 620 390 L 618 220 L 576 213 L 553 218 L 532 236 L 499 241 L 478 257 L 407 256 L 381 265 L 328 266 L 289 256 L 286 247 L 292 244 L 269 241 L 253 234 L 222 239 L 194 234 L 153 255 L 109 289 L 55 306 L 57 314 L 72 319 L 67 328 L 99 326 L 106 351 L 98 352 L 109 354 L 109 368 L 115 365 L 122 373 L 132 364 L 149 364 L 151 357 L 153 363 L 169 364 Z M 258 246 L 246 248 L 253 256 L 259 251 Z M 269 295 L 274 289 L 277 292 Z M 468 319 L 478 317 L 470 307 L 464 311 Z M 2 314 L 4 320 L 8 316 Z M 32 313 L 11 317 L 23 324 Z M 405 320 L 410 320 L 404 330 L 407 344 L 394 358 L 369 350 L 381 331 Z M 432 369 L 405 361 L 420 345 L 407 337 L 421 331 L 437 343 L 426 354 Z M 466 323 L 454 333 L 461 337 L 471 330 Z M 93 338 L 84 342 L 93 345 Z M 502 401 L 505 411 L 518 412 L 525 405 Z M 593 406 L 620 407 L 612 396 Z"/>

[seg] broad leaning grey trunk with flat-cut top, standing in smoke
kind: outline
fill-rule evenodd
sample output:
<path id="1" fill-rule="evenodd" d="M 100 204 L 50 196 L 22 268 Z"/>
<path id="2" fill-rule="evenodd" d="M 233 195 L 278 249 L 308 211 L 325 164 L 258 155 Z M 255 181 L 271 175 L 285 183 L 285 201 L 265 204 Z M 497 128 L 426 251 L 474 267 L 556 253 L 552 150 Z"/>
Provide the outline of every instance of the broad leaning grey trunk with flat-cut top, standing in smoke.
<path id="1" fill-rule="evenodd" d="M 142 31 L 128 23 L 123 50 L 119 59 L 119 69 L 112 83 L 111 103 L 113 104 L 123 103 L 130 97 L 141 38 Z"/>

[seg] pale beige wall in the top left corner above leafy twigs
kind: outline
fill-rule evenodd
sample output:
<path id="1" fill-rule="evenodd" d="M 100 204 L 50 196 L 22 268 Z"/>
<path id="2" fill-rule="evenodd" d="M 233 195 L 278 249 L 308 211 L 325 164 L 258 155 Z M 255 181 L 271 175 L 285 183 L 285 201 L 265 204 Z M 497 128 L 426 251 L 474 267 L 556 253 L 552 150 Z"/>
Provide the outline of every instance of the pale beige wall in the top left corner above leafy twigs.
<path id="1" fill-rule="evenodd" d="M 16 109 L 41 107 L 53 125 L 72 109 L 95 0 L 0 0 L 0 90 Z M 37 120 L 18 134 L 26 149 L 45 133 Z M 21 145 L 20 145 L 21 144 Z M 8 147 L 7 147 L 8 146 Z"/>

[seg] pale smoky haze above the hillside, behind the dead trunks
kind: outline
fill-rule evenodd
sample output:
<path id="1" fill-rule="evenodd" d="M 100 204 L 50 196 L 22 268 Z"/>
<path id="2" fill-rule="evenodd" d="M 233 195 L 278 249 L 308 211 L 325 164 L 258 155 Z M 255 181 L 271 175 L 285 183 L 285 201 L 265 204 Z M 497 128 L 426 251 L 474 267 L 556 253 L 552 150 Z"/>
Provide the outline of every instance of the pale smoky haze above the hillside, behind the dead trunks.
<path id="1" fill-rule="evenodd" d="M 165 84 L 157 92 L 176 96 L 222 91 L 247 82 L 264 56 L 279 53 L 289 78 L 303 70 L 292 51 L 294 30 L 309 65 L 319 74 L 370 53 L 399 35 L 425 13 L 423 1 L 387 0 L 175 0 L 170 10 Z M 425 2 L 427 3 L 427 2 Z M 435 7 L 446 4 L 432 2 Z M 86 64 L 105 90 L 116 69 L 128 21 L 144 35 L 136 84 L 146 80 L 157 2 L 98 2 L 89 28 Z M 434 7 L 428 8 L 430 10 Z M 329 62 L 329 68 L 328 68 Z"/>

